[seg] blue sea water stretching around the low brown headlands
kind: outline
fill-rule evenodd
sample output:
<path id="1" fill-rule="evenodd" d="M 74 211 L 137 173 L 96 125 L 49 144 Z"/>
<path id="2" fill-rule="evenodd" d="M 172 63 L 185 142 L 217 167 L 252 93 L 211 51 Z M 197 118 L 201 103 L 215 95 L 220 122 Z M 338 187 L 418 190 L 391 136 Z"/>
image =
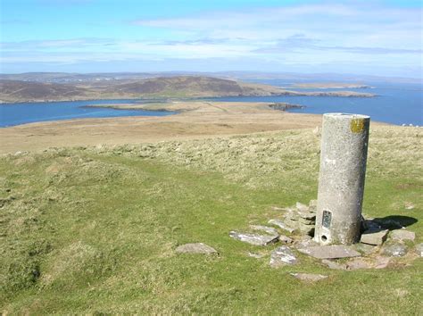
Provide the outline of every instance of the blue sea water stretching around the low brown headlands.
<path id="1" fill-rule="evenodd" d="M 304 106 L 302 109 L 290 109 L 288 112 L 316 114 L 326 112 L 359 113 L 369 115 L 372 121 L 383 121 L 395 125 L 423 126 L 423 85 L 421 84 L 366 82 L 365 84 L 369 85 L 369 88 L 315 89 L 290 88 L 292 82 L 286 82 L 280 79 L 254 79 L 249 81 L 286 87 L 286 89 L 295 91 L 351 90 L 372 93 L 377 96 L 370 98 L 336 96 L 230 96 L 207 98 L 207 100 L 225 102 L 284 102 Z M 175 112 L 87 107 L 90 104 L 139 104 L 160 101 L 157 99 L 139 99 L 0 104 L 0 128 L 37 121 L 175 114 Z"/>

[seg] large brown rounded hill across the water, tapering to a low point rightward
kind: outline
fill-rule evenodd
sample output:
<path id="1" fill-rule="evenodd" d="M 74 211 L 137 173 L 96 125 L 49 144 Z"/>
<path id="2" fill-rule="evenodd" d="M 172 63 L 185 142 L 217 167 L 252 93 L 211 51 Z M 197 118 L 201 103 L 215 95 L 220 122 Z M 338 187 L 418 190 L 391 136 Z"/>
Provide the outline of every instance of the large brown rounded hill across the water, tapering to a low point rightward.
<path id="1" fill-rule="evenodd" d="M 203 76 L 137 80 L 53 83 L 0 80 L 0 103 L 54 102 L 99 99 L 196 98 L 217 96 L 340 96 L 372 97 L 353 91 L 298 92 L 282 87 Z"/>

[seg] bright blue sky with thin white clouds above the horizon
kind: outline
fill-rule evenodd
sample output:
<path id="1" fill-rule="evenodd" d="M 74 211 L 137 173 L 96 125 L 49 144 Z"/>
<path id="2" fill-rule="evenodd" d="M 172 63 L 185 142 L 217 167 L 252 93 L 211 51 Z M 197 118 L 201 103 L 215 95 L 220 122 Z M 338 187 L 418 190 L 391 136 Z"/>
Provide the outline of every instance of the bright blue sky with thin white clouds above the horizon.
<path id="1" fill-rule="evenodd" d="M 420 0 L 1 0 L 0 72 L 422 78 Z"/>

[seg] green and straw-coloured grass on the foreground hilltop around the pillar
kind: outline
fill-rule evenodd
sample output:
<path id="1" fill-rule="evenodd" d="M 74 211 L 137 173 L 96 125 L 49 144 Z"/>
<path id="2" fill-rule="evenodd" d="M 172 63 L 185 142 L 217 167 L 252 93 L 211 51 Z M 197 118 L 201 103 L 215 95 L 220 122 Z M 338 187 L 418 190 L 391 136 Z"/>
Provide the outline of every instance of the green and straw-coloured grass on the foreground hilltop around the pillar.
<path id="1" fill-rule="evenodd" d="M 372 130 L 364 210 L 407 216 L 423 241 L 422 132 Z M 422 310 L 422 260 L 328 270 L 231 229 L 317 195 L 311 130 L 139 146 L 49 149 L 0 158 L 0 311 L 4 313 L 402 313 Z M 414 205 L 407 210 L 406 205 Z M 219 255 L 176 254 L 203 242 Z M 410 249 L 412 249 L 410 245 Z M 264 252 L 255 259 L 249 251 Z M 407 263 L 407 264 L 405 264 Z M 329 275 L 316 284 L 289 272 Z"/>

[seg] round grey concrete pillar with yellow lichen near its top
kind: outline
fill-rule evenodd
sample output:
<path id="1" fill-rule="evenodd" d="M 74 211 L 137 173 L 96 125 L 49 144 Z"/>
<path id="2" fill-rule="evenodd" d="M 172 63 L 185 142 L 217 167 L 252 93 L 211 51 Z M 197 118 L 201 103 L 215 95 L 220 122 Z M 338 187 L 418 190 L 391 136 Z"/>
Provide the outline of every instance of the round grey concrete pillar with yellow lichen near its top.
<path id="1" fill-rule="evenodd" d="M 370 118 L 323 115 L 314 240 L 351 245 L 360 240 Z"/>

